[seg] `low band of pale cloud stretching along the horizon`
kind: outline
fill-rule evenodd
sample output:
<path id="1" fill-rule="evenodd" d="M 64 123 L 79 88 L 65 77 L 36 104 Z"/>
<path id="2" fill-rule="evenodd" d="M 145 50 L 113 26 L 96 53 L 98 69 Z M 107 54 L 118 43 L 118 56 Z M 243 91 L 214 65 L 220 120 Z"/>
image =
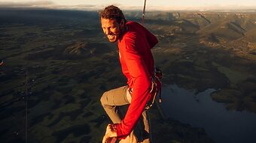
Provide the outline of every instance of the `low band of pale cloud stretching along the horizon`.
<path id="1" fill-rule="evenodd" d="M 123 10 L 142 10 L 143 5 L 141 6 L 129 6 L 121 3 L 114 3 L 118 7 L 121 7 Z M 108 4 L 77 4 L 77 5 L 61 5 L 56 4 L 50 0 L 43 1 L 19 1 L 19 2 L 8 2 L 0 1 L 0 7 L 19 7 L 19 8 L 52 8 L 52 9 L 69 9 L 69 10 L 102 10 Z M 147 10 L 245 10 L 251 9 L 255 10 L 256 6 L 246 6 L 246 5 L 219 5 L 212 4 L 206 6 L 159 6 L 159 5 L 148 5 Z"/>

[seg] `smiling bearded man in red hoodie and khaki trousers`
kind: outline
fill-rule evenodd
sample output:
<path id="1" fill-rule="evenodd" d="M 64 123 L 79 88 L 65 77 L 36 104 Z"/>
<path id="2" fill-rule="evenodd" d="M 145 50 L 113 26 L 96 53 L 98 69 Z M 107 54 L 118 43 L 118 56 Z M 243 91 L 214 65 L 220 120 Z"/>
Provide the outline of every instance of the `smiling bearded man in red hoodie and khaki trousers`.
<path id="1" fill-rule="evenodd" d="M 110 5 L 100 13 L 102 30 L 111 43 L 118 43 L 122 72 L 127 78 L 126 86 L 107 91 L 102 95 L 101 103 L 114 124 L 108 124 L 102 142 L 111 139 L 127 139 L 136 142 L 133 128 L 140 116 L 145 117 L 145 106 L 154 96 L 151 92 L 154 78 L 154 58 L 151 48 L 158 40 L 146 28 L 137 22 L 127 22 L 122 11 Z M 116 106 L 130 104 L 123 120 Z M 145 118 L 144 118 L 145 119 Z M 145 119 L 145 131 L 149 132 Z M 144 142 L 149 142 L 145 139 Z"/>

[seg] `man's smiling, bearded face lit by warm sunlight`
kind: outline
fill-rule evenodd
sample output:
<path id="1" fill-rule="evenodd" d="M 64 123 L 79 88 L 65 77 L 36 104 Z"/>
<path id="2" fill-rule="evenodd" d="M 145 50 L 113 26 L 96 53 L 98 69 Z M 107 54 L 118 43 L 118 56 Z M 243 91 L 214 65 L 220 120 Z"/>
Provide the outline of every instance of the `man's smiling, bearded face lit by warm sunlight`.
<path id="1" fill-rule="evenodd" d="M 104 19 L 101 18 L 102 30 L 108 37 L 109 42 L 115 43 L 120 37 L 121 31 L 123 29 L 123 21 L 120 24 L 116 19 Z"/>

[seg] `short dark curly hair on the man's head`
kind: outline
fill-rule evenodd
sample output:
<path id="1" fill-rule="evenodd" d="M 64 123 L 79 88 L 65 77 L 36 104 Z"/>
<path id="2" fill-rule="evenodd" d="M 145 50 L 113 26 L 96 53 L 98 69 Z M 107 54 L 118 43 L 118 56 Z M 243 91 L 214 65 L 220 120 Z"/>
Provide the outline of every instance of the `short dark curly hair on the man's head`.
<path id="1" fill-rule="evenodd" d="M 120 23 L 123 19 L 124 23 L 126 23 L 126 19 L 123 16 L 122 10 L 114 5 L 109 5 L 105 7 L 104 10 L 99 12 L 100 17 L 104 19 L 116 19 L 118 23 Z"/>

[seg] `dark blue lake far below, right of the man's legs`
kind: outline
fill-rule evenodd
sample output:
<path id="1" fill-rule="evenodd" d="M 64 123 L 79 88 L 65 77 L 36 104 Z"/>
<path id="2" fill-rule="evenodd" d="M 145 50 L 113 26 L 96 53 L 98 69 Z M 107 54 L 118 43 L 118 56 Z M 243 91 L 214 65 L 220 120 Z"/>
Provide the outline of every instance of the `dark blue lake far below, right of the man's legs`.
<path id="1" fill-rule="evenodd" d="M 182 123 L 203 127 L 217 143 L 255 143 L 256 114 L 227 111 L 223 103 L 212 100 L 213 91 L 208 89 L 196 95 L 177 85 L 163 87 L 163 112 Z"/>

